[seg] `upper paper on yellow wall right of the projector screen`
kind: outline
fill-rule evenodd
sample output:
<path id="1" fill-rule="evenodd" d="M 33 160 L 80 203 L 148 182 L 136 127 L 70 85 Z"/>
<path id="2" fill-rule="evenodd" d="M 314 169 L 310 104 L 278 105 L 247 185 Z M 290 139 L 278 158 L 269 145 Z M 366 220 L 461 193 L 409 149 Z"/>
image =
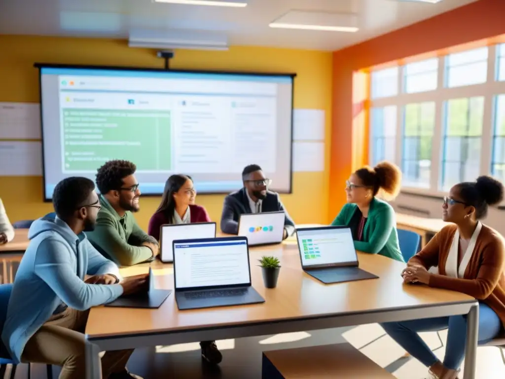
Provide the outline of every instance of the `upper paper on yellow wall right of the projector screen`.
<path id="1" fill-rule="evenodd" d="M 293 140 L 323 141 L 325 115 L 319 109 L 293 110 Z"/>

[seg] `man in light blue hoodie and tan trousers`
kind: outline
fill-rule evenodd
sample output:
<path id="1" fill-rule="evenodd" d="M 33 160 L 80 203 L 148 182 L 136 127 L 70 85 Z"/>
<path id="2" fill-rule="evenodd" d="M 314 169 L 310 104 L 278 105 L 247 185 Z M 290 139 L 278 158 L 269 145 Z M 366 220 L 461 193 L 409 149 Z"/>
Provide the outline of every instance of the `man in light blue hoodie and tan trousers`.
<path id="1" fill-rule="evenodd" d="M 85 377 L 89 309 L 145 291 L 147 275 L 120 281 L 118 267 L 86 239 L 84 231 L 93 230 L 100 209 L 93 181 L 63 179 L 56 185 L 53 204 L 56 219 L 41 218 L 30 227 L 30 245 L 14 280 L 2 342 L 16 363 L 59 365 L 60 379 L 78 379 Z M 132 352 L 107 352 L 103 378 L 138 378 L 126 369 Z"/>

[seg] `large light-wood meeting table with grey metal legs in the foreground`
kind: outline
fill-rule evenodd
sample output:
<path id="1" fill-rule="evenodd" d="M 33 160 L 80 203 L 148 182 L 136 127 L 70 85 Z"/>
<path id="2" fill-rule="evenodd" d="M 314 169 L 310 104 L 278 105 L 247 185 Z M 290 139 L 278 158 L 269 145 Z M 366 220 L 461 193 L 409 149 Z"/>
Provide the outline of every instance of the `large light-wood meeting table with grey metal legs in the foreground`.
<path id="1" fill-rule="evenodd" d="M 464 379 L 475 378 L 478 303 L 462 293 L 404 285 L 405 263 L 359 253 L 360 267 L 378 279 L 324 285 L 301 270 L 296 243 L 251 248 L 252 286 L 264 304 L 179 311 L 174 294 L 159 309 L 95 307 L 86 326 L 86 375 L 98 378 L 104 350 L 212 341 L 316 330 L 384 321 L 468 314 Z M 277 288 L 263 285 L 258 261 L 281 261 Z M 158 288 L 173 289 L 172 264 L 150 264 Z M 124 276 L 147 272 L 149 265 L 122 269 Z"/>

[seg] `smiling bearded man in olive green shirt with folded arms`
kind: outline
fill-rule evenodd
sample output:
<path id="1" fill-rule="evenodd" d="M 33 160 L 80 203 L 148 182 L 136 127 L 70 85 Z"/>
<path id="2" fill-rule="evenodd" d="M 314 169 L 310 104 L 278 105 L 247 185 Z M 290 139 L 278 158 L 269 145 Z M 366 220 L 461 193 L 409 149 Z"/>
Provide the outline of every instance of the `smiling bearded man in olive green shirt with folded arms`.
<path id="1" fill-rule="evenodd" d="M 93 246 L 121 266 L 132 266 L 154 259 L 158 242 L 144 232 L 133 217 L 138 212 L 140 190 L 132 162 L 114 160 L 98 168 L 96 186 L 102 209 L 96 227 L 87 233 Z"/>

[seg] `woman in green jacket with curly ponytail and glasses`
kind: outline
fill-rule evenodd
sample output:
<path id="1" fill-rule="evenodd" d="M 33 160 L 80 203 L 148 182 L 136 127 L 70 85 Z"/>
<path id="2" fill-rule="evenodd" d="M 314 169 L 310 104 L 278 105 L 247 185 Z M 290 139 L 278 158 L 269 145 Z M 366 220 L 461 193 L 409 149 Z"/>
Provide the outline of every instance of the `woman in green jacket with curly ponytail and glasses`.
<path id="1" fill-rule="evenodd" d="M 376 198 L 380 192 L 383 198 L 394 199 L 400 182 L 400 169 L 389 162 L 360 168 L 347 180 L 347 204 L 331 224 L 350 227 L 356 250 L 404 262 L 394 210 Z"/>

